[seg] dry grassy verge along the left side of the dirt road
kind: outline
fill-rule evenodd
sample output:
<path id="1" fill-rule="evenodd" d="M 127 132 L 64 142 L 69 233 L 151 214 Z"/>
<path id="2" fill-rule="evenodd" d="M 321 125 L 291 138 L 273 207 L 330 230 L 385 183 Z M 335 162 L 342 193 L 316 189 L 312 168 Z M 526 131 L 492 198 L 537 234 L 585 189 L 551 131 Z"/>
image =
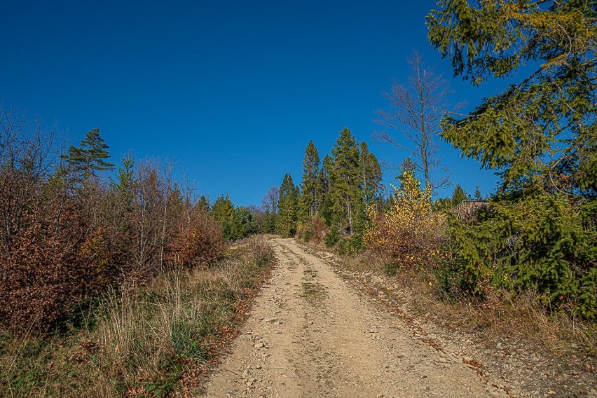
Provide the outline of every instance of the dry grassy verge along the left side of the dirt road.
<path id="1" fill-rule="evenodd" d="M 235 336 L 274 263 L 252 238 L 210 268 L 179 270 L 149 286 L 109 291 L 67 335 L 0 336 L 0 395 L 116 397 L 200 392 L 201 375 Z"/>

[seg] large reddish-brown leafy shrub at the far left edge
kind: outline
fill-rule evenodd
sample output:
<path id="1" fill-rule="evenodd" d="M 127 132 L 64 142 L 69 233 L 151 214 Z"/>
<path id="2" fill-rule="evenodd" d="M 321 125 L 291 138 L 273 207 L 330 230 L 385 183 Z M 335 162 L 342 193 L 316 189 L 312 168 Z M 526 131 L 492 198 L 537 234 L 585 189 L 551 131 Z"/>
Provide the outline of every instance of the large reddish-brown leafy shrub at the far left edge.
<path id="1" fill-rule="evenodd" d="M 0 256 L 0 319 L 10 329 L 48 329 L 104 284 L 99 231 L 85 234 L 81 211 L 30 212 Z"/>

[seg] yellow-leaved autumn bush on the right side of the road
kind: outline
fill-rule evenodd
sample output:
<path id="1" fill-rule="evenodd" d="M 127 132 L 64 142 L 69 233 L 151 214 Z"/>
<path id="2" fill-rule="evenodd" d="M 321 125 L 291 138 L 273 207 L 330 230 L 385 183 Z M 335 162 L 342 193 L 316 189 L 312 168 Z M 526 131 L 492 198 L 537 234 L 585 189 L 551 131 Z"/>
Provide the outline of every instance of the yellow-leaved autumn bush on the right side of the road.
<path id="1" fill-rule="evenodd" d="M 369 207 L 369 226 L 363 233 L 366 249 L 389 258 L 388 270 L 434 266 L 444 218 L 432 212 L 429 189 L 413 172 L 404 172 L 400 186 L 392 186 L 394 194 L 385 210 Z"/>

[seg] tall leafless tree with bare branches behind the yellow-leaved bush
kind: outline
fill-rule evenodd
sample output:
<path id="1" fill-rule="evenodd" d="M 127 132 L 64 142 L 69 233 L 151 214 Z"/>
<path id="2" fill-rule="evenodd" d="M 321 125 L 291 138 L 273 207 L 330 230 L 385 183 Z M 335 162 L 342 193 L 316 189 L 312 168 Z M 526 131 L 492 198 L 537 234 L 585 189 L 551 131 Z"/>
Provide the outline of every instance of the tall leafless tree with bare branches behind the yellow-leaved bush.
<path id="1" fill-rule="evenodd" d="M 392 90 L 385 95 L 392 104 L 390 111 L 376 112 L 380 116 L 376 122 L 387 130 L 376 132 L 373 139 L 407 151 L 415 170 L 423 173 L 425 186 L 434 192 L 446 188 L 450 179 L 448 170 L 440 165 L 435 142 L 439 121 L 446 109 L 448 83 L 434 74 L 433 69 L 425 69 L 425 63 L 416 51 L 409 64 L 408 82 L 394 81 Z M 394 137 L 388 130 L 397 130 L 400 136 Z M 438 169 L 441 172 L 437 173 Z"/>

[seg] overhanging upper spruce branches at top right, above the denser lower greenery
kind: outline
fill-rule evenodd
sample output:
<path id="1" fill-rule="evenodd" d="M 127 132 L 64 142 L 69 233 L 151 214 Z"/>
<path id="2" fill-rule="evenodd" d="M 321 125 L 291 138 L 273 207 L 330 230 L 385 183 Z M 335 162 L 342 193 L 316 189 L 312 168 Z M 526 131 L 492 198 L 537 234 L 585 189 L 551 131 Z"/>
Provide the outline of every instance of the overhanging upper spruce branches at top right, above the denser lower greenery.
<path id="1" fill-rule="evenodd" d="M 596 21 L 594 0 L 447 0 L 428 15 L 430 42 L 474 85 L 540 64 L 472 114 L 441 123 L 464 156 L 499 171 L 501 191 L 596 195 Z"/>

